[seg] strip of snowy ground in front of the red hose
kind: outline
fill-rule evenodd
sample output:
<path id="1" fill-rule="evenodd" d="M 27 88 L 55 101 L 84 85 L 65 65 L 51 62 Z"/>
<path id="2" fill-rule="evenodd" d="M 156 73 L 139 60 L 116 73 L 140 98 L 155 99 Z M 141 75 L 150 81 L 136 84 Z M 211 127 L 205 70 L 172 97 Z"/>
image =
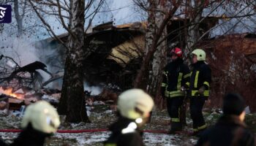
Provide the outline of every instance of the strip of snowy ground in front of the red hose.
<path id="1" fill-rule="evenodd" d="M 48 139 L 49 145 L 102 145 L 106 139 L 108 139 L 110 132 L 88 132 L 80 134 L 61 134 L 57 133 L 50 139 Z M 12 142 L 12 139 L 18 137 L 18 133 L 0 133 L 2 139 L 6 142 Z M 145 145 L 161 145 L 161 146 L 175 146 L 181 145 L 181 141 L 184 140 L 182 136 L 168 135 L 168 134 L 151 134 L 144 133 L 143 139 Z M 183 145 L 193 145 L 196 139 L 187 139 L 186 142 L 182 142 Z M 54 143 L 54 144 L 53 144 Z"/>

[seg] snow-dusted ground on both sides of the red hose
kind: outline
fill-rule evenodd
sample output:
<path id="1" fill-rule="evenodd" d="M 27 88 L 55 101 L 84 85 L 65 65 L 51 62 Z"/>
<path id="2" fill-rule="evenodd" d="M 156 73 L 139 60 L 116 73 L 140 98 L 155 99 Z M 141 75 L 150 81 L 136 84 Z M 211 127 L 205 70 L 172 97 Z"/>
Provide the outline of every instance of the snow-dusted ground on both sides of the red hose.
<path id="1" fill-rule="evenodd" d="M 90 109 L 90 108 L 89 108 Z M 212 125 L 216 122 L 217 118 L 221 113 L 213 112 L 215 110 L 204 110 L 204 115 L 206 117 L 206 122 Z M 110 110 L 108 105 L 94 105 L 94 109 L 90 111 L 91 123 L 61 123 L 59 129 L 105 129 L 108 128 L 110 123 L 116 120 L 116 115 L 113 110 Z M 21 118 L 13 114 L 0 115 L 0 127 L 2 129 L 13 129 L 20 128 Z M 61 117 L 61 121 L 64 121 L 64 117 Z M 255 131 L 256 126 L 256 115 L 247 115 L 246 123 L 252 131 Z M 187 115 L 187 126 L 185 131 L 191 131 L 192 120 Z M 151 122 L 145 127 L 146 130 L 156 130 L 156 131 L 167 131 L 170 128 L 170 118 L 167 116 L 166 110 L 154 109 L 152 112 Z M 47 139 L 48 146 L 53 145 L 102 145 L 102 142 L 108 138 L 110 132 L 88 132 L 80 134 L 61 134 L 57 133 L 50 139 Z M 18 136 L 18 133 L 4 133 L 0 132 L 0 136 L 5 142 L 10 143 L 12 139 Z M 143 139 L 146 145 L 195 145 L 197 142 L 197 137 L 190 137 L 187 134 L 161 134 L 161 133 L 148 133 L 145 132 Z"/>

